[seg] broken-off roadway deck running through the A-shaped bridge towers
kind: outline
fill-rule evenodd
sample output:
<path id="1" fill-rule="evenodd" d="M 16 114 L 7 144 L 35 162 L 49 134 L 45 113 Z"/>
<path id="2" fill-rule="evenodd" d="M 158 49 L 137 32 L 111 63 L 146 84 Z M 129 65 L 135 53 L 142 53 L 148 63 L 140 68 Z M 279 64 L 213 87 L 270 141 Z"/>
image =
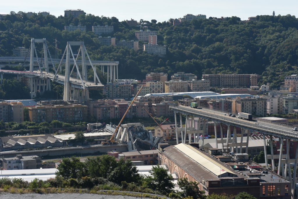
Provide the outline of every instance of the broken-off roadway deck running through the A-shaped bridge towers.
<path id="1" fill-rule="evenodd" d="M 28 71 L 15 71 L 15 70 L 0 70 L 0 73 L 4 73 L 4 74 L 12 74 L 12 75 L 22 75 L 22 76 L 26 76 L 26 77 L 39 77 L 39 78 L 49 78 L 54 82 L 57 82 L 59 84 L 63 84 L 64 85 L 64 79 L 65 76 L 64 75 L 56 75 L 56 78 L 53 80 L 54 78 L 54 74 L 50 73 L 50 72 L 44 72 L 43 71 L 43 75 L 41 74 L 41 72 L 39 70 L 34 70 L 34 72 L 28 72 Z M 82 85 L 82 82 L 80 79 L 76 79 L 76 78 L 69 78 L 70 81 L 70 86 L 77 88 L 77 89 L 83 89 L 84 87 L 88 88 L 88 89 L 95 89 L 98 87 L 103 87 L 103 84 L 99 84 L 99 83 L 94 83 L 91 81 L 83 81 L 84 82 L 84 87 Z"/>

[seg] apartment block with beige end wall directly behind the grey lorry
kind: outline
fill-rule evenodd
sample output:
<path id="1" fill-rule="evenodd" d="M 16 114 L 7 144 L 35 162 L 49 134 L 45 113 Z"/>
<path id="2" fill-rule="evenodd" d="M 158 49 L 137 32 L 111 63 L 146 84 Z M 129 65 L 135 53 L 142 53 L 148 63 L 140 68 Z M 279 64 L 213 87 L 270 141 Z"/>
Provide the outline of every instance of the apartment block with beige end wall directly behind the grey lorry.
<path id="1" fill-rule="evenodd" d="M 236 97 L 232 101 L 232 112 L 235 114 L 246 112 L 252 115 L 266 115 L 267 99 L 248 96 L 246 98 Z"/>

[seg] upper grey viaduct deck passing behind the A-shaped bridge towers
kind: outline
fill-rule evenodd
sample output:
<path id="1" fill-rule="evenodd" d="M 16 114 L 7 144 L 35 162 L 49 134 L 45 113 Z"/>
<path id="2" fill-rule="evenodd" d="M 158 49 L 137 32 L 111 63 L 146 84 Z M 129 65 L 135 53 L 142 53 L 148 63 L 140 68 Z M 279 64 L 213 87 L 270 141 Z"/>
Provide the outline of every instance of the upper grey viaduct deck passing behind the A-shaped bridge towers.
<path id="1" fill-rule="evenodd" d="M 0 62 L 11 62 L 11 61 L 19 61 L 23 62 L 25 60 L 25 57 L 0 57 Z M 41 58 L 38 58 L 39 62 L 41 61 Z M 54 64 L 59 64 L 61 59 L 52 59 Z M 27 57 L 27 61 L 30 62 L 30 57 Z M 44 59 L 42 59 L 44 62 Z M 37 58 L 34 58 L 34 62 L 37 62 Z M 82 60 L 77 60 L 77 63 L 81 63 Z M 94 66 L 113 66 L 118 65 L 119 61 L 91 61 Z M 49 64 L 51 64 L 51 60 L 49 60 Z M 62 64 L 66 63 L 66 59 L 63 59 Z M 70 64 L 75 64 L 73 59 L 70 59 Z M 86 60 L 87 65 L 91 65 L 89 61 Z"/>

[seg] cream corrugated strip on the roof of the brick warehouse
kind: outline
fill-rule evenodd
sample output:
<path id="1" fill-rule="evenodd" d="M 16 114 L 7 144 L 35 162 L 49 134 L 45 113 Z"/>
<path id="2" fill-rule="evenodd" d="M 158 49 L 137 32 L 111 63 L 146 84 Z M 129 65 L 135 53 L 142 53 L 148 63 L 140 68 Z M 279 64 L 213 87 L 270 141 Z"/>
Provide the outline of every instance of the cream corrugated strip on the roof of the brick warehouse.
<path id="1" fill-rule="evenodd" d="M 218 161 L 215 161 L 213 158 L 205 155 L 204 153 L 199 153 L 198 150 L 194 149 L 192 146 L 181 143 L 175 145 L 175 147 L 217 176 L 227 172 L 234 173 L 232 169 L 223 168 Z"/>

